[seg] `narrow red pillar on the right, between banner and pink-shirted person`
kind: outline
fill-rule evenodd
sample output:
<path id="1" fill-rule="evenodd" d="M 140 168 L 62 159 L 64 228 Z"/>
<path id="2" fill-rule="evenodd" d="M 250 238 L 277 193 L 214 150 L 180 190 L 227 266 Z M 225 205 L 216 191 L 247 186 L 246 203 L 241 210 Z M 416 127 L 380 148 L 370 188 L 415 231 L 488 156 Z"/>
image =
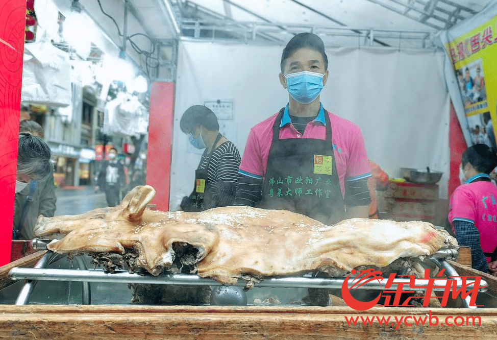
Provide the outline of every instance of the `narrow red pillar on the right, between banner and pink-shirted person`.
<path id="1" fill-rule="evenodd" d="M 457 119 L 456 111 L 451 101 L 451 111 L 449 117 L 449 149 L 450 149 L 450 176 L 448 185 L 448 198 L 450 199 L 454 190 L 461 184 L 459 180 L 459 165 L 461 164 L 461 156 L 464 150 L 467 149 L 466 140 L 462 134 L 461 125 Z"/>

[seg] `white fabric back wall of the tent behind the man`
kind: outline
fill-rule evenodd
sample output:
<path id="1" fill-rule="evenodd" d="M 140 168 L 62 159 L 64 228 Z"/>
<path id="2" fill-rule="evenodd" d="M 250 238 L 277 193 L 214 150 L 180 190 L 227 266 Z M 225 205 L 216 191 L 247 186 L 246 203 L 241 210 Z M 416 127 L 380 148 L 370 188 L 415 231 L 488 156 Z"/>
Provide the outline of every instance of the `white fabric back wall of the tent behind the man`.
<path id="1" fill-rule="evenodd" d="M 200 155 L 191 152 L 179 128 L 183 112 L 206 101 L 231 100 L 233 120 L 225 126 L 240 153 L 250 128 L 288 102 L 278 74 L 283 46 L 180 41 L 172 143 L 170 207 L 193 188 Z M 449 178 L 449 95 L 442 52 L 386 48 L 328 49 L 330 75 L 321 92 L 325 108 L 358 124 L 368 156 L 390 177 L 401 167 L 444 173 Z M 230 134 L 227 133 L 228 138 Z"/>

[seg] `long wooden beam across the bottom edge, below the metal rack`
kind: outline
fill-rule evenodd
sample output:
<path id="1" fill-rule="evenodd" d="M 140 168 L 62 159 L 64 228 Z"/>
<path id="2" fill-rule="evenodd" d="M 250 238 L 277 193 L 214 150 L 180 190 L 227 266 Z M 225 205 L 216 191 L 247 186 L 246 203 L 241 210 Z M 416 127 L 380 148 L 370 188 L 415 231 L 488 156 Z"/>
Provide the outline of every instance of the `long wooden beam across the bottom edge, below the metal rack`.
<path id="1" fill-rule="evenodd" d="M 439 320 L 479 315 L 480 326 L 402 324 L 378 321 L 349 326 L 345 316 L 424 317 L 425 308 L 375 307 L 157 307 L 157 306 L 0 306 L 0 338 L 16 339 L 491 339 L 497 309 L 433 308 Z"/>

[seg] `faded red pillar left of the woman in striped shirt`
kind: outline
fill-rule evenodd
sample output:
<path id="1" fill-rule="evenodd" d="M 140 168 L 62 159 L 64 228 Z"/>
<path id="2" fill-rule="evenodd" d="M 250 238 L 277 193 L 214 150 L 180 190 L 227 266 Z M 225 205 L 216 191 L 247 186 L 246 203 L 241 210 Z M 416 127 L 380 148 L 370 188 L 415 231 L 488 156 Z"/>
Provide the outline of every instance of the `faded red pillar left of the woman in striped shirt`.
<path id="1" fill-rule="evenodd" d="M 146 184 L 155 188 L 156 195 L 152 203 L 161 211 L 169 210 L 174 106 L 175 83 L 152 83 L 148 114 Z"/>

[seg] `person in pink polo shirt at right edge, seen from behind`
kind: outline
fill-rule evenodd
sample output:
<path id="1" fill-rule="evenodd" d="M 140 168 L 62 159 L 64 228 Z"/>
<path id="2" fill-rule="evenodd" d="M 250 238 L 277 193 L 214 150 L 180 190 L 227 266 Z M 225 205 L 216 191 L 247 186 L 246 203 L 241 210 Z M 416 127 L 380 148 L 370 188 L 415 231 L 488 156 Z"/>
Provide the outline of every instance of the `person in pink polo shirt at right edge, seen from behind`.
<path id="1" fill-rule="evenodd" d="M 461 246 L 471 247 L 471 266 L 497 276 L 497 186 L 488 174 L 497 156 L 485 144 L 462 154 L 461 184 L 449 206 L 449 221 Z"/>

